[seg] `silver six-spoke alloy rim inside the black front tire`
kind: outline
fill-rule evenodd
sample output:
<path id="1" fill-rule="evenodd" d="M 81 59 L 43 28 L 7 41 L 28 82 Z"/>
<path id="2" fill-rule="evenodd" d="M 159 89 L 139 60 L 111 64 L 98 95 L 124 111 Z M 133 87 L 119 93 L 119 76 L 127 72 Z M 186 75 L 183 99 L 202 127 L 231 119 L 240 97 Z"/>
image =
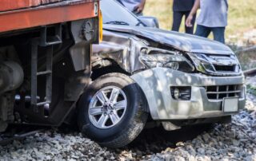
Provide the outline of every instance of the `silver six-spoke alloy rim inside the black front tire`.
<path id="1" fill-rule="evenodd" d="M 89 118 L 96 128 L 112 128 L 126 113 L 127 99 L 121 88 L 108 86 L 96 92 L 90 100 Z"/>

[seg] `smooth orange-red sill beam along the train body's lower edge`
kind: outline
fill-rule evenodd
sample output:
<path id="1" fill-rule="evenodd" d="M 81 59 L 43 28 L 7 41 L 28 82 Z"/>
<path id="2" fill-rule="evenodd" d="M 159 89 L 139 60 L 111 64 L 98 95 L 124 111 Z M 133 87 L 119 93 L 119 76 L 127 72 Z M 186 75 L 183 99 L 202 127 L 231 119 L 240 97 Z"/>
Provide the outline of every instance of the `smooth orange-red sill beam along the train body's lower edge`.
<path id="1" fill-rule="evenodd" d="M 25 0 L 22 1 L 25 2 Z M 49 1 L 53 2 L 56 0 L 41 0 L 40 2 Z M 95 15 L 94 12 L 94 2 L 99 3 L 98 1 L 92 0 L 62 0 L 62 2 L 57 2 L 46 6 L 0 12 L 0 33 L 16 29 L 26 29 L 36 26 L 46 26 L 54 23 L 94 18 L 98 16 Z"/>

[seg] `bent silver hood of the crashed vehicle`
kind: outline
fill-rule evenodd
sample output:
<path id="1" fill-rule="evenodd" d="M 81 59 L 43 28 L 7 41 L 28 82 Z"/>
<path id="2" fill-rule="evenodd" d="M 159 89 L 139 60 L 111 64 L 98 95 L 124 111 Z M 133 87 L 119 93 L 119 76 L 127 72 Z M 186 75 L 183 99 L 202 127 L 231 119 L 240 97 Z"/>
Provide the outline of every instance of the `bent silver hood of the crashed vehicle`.
<path id="1" fill-rule="evenodd" d="M 218 41 L 211 41 L 185 33 L 167 31 L 163 29 L 137 26 L 104 25 L 104 29 L 122 33 L 130 33 L 152 41 L 169 45 L 176 49 L 191 53 L 234 54 L 226 45 Z"/>

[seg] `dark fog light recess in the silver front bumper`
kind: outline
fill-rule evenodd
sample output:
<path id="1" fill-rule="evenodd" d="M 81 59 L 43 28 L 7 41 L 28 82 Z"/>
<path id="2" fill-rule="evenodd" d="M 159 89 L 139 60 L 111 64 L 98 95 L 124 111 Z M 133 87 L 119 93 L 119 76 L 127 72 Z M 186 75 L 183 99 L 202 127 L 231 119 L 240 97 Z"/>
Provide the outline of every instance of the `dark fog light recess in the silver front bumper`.
<path id="1" fill-rule="evenodd" d="M 170 93 L 174 100 L 191 99 L 191 87 L 170 87 Z"/>

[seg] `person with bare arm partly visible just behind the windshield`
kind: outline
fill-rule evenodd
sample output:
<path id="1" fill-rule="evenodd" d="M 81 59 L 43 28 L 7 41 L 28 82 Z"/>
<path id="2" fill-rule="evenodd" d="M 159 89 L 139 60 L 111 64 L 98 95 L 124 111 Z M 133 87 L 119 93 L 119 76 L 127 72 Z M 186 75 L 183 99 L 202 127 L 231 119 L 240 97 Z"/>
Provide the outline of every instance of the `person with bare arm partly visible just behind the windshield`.
<path id="1" fill-rule="evenodd" d="M 118 0 L 128 10 L 136 14 L 137 16 L 143 15 L 146 0 Z"/>

